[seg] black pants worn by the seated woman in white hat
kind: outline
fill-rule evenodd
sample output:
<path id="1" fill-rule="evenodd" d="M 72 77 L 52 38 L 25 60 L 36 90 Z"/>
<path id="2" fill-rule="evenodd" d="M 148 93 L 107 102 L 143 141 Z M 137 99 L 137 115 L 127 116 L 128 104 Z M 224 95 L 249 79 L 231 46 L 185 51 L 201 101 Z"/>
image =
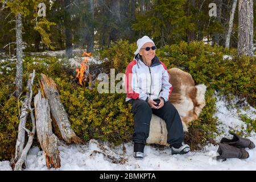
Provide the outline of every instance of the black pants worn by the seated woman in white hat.
<path id="1" fill-rule="evenodd" d="M 133 105 L 134 114 L 134 143 L 146 144 L 150 131 L 150 121 L 152 113 L 162 118 L 167 127 L 167 143 L 180 144 L 184 140 L 183 126 L 177 109 L 171 102 L 165 102 L 160 109 L 152 109 L 146 101 L 129 100 Z"/>

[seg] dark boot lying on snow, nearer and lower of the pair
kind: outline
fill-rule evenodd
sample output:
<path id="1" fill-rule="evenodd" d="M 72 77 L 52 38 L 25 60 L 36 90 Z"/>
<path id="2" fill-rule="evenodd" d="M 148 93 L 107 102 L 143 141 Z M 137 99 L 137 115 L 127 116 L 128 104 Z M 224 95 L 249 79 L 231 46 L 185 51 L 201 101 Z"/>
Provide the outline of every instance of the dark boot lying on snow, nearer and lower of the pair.
<path id="1" fill-rule="evenodd" d="M 238 159 L 247 159 L 249 158 L 248 152 L 245 148 L 237 148 L 234 146 L 230 146 L 225 143 L 218 143 L 218 154 L 217 160 L 219 159 L 228 159 L 228 158 L 238 158 Z"/>

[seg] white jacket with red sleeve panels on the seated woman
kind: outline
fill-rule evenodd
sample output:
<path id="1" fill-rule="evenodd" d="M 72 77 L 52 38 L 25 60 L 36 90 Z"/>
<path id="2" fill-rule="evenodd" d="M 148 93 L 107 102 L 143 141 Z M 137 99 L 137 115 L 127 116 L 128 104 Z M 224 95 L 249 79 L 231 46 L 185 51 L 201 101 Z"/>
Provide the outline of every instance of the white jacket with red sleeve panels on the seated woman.
<path id="1" fill-rule="evenodd" d="M 155 56 L 152 64 L 148 67 L 143 63 L 139 54 L 126 68 L 125 89 L 126 101 L 131 99 L 154 100 L 162 97 L 168 101 L 172 92 L 169 82 L 169 74 L 166 65 Z"/>

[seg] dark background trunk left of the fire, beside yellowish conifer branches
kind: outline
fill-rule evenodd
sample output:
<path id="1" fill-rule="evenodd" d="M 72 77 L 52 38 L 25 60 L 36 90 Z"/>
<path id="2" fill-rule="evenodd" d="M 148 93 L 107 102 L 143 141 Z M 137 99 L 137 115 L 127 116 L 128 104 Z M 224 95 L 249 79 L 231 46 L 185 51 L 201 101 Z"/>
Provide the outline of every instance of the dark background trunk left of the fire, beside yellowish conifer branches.
<path id="1" fill-rule="evenodd" d="M 66 56 L 68 58 L 73 57 L 72 46 L 72 29 L 71 29 L 71 2 L 70 0 L 64 0 L 64 24 L 65 24 L 65 43 L 66 43 Z"/>

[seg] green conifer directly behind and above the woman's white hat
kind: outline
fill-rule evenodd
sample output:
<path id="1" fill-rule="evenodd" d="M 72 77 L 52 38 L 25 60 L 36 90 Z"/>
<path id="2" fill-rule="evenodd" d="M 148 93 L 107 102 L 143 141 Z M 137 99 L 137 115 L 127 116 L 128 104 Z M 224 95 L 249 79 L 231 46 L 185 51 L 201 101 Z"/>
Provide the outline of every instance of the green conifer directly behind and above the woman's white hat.
<path id="1" fill-rule="evenodd" d="M 154 38 L 160 47 L 185 39 L 185 30 L 193 26 L 184 13 L 185 0 L 156 0 L 152 8 L 137 15 L 136 31 Z"/>

